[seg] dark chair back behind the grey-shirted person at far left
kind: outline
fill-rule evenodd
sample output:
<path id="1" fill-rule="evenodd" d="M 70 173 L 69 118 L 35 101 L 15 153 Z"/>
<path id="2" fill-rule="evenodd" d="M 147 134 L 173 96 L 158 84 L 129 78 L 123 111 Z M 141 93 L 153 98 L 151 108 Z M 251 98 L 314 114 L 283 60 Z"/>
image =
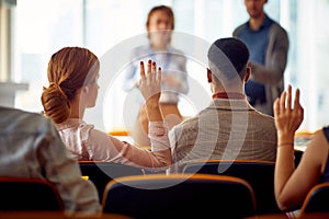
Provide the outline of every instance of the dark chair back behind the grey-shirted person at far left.
<path id="1" fill-rule="evenodd" d="M 0 176 L 0 210 L 64 210 L 55 185 L 42 178 Z"/>

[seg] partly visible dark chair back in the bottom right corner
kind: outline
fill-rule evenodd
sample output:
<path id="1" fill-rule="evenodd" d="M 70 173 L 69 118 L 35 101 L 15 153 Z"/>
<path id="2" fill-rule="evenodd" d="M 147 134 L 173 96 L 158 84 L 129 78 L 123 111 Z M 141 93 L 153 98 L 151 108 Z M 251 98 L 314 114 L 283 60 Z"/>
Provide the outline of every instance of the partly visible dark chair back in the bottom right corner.
<path id="1" fill-rule="evenodd" d="M 314 186 L 300 208 L 300 217 L 310 212 L 329 212 L 329 182 Z"/>

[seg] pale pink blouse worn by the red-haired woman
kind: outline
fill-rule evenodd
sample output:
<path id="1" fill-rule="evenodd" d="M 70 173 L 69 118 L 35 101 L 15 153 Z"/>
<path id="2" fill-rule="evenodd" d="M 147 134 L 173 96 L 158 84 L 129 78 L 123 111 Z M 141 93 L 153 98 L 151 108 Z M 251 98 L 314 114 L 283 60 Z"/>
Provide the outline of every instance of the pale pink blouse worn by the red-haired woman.
<path id="1" fill-rule="evenodd" d="M 172 162 L 168 128 L 162 122 L 149 124 L 151 151 L 121 141 L 79 118 L 57 124 L 57 129 L 77 160 L 118 162 L 139 168 L 164 168 Z"/>

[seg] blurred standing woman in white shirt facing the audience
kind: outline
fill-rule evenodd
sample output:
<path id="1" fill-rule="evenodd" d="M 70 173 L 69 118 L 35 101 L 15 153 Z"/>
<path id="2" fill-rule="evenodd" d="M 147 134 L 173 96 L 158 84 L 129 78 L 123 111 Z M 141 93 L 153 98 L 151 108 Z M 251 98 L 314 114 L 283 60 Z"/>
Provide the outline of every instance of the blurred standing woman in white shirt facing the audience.
<path id="1" fill-rule="evenodd" d="M 133 49 L 131 60 L 154 59 L 162 67 L 162 92 L 160 107 L 169 129 L 181 123 L 183 116 L 178 107 L 180 94 L 189 92 L 186 58 L 183 51 L 171 46 L 171 36 L 174 28 L 172 9 L 167 5 L 154 7 L 146 21 L 147 45 Z M 133 64 L 125 76 L 124 88 L 126 91 L 138 89 L 138 64 Z M 145 105 L 141 104 L 139 114 L 134 124 L 131 136 L 134 142 L 141 147 L 150 145 L 148 134 L 148 116 Z"/>

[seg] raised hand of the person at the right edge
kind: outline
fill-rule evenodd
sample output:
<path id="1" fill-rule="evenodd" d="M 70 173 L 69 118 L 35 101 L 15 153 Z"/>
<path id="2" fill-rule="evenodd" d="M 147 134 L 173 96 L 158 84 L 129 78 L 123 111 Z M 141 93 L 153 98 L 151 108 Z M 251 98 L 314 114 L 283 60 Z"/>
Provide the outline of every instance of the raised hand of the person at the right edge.
<path id="1" fill-rule="evenodd" d="M 288 85 L 287 91 L 275 100 L 273 111 L 279 146 L 293 146 L 295 131 L 304 119 L 304 108 L 299 103 L 299 89 L 296 90 L 294 106 L 292 106 L 292 85 Z"/>

